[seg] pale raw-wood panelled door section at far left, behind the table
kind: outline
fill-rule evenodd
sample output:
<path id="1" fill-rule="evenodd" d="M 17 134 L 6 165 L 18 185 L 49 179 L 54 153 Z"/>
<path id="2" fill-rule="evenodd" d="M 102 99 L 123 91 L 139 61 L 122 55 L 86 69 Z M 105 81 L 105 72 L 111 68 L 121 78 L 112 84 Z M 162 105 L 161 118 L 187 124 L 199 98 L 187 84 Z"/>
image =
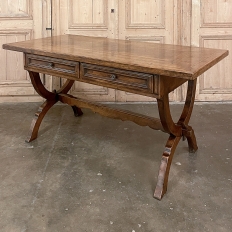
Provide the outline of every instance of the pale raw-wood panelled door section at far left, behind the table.
<path id="1" fill-rule="evenodd" d="M 45 36 L 42 0 L 0 1 L 0 46 Z M 46 14 L 44 14 L 46 16 Z M 45 29 L 44 28 L 44 29 Z M 0 50 L 0 102 L 39 101 L 27 72 L 23 54 Z"/>

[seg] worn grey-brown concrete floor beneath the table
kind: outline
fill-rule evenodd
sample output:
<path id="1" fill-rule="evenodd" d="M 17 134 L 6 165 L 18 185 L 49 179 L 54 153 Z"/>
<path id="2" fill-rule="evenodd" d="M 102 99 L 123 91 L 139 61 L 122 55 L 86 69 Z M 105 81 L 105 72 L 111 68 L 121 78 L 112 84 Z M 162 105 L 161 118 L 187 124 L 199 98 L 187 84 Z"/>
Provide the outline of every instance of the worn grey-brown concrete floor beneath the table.
<path id="1" fill-rule="evenodd" d="M 194 106 L 199 150 L 179 143 L 162 201 L 153 191 L 167 134 L 56 105 L 28 144 L 38 106 L 0 104 L 1 232 L 232 231 L 232 104 Z"/>

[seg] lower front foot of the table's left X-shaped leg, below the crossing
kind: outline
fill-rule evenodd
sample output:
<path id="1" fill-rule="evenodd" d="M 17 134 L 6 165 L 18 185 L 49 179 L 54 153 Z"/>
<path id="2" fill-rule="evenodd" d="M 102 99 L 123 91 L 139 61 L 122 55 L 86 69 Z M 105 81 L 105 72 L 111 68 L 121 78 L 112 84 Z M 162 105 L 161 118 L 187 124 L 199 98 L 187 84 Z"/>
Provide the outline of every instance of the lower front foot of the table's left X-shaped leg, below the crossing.
<path id="1" fill-rule="evenodd" d="M 30 132 L 28 139 L 26 139 L 26 142 L 31 142 L 34 139 L 37 138 L 38 131 L 40 124 L 48 112 L 48 110 L 56 103 L 57 101 L 45 101 L 38 109 L 38 111 L 35 113 L 35 116 L 32 120 L 31 127 L 30 127 Z"/>

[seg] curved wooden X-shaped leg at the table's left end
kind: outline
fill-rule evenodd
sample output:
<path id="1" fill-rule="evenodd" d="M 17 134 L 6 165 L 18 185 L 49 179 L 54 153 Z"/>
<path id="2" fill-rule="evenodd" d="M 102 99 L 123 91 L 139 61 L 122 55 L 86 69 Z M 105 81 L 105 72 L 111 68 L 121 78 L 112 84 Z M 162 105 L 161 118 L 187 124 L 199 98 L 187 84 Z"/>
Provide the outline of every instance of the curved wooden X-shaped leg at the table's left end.
<path id="1" fill-rule="evenodd" d="M 39 107 L 38 111 L 35 114 L 35 117 L 32 120 L 30 134 L 26 142 L 31 142 L 32 140 L 37 138 L 39 127 L 44 116 L 46 115 L 48 110 L 58 101 L 57 95 L 62 93 L 66 94 L 71 89 L 74 83 L 73 80 L 67 80 L 58 91 L 50 92 L 44 87 L 43 83 L 41 82 L 39 73 L 29 71 L 29 75 L 34 89 L 41 97 L 45 98 L 46 101 Z M 80 111 L 78 112 L 80 113 Z"/>

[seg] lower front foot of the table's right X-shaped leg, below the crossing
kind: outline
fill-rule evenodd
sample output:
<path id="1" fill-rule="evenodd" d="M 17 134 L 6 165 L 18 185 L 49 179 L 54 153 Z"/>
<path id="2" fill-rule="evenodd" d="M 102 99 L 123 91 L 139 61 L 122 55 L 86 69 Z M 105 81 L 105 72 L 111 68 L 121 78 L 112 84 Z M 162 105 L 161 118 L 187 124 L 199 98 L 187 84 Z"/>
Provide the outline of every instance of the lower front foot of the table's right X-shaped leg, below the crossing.
<path id="1" fill-rule="evenodd" d="M 163 195 L 167 191 L 168 185 L 168 176 L 172 163 L 172 158 L 176 147 L 180 141 L 181 137 L 176 137 L 174 135 L 170 135 L 165 146 L 165 150 L 161 159 L 161 165 L 159 169 L 158 181 L 154 193 L 154 198 L 161 200 Z"/>

